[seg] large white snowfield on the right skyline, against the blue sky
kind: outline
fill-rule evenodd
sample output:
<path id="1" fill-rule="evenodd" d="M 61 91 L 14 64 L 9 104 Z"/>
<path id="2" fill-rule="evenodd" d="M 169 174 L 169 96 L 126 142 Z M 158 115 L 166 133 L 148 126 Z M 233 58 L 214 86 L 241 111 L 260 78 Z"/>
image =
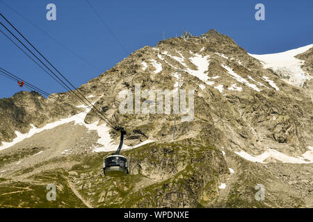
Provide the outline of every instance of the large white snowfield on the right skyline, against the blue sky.
<path id="1" fill-rule="evenodd" d="M 298 60 L 294 56 L 304 53 L 311 49 L 313 44 L 303 46 L 298 49 L 291 49 L 281 53 L 272 53 L 264 55 L 249 54 L 250 56 L 262 61 L 264 69 L 273 69 L 278 75 L 280 75 L 287 83 L 303 87 L 306 80 L 310 80 L 312 76 L 306 74 L 302 69 L 302 60 Z"/>

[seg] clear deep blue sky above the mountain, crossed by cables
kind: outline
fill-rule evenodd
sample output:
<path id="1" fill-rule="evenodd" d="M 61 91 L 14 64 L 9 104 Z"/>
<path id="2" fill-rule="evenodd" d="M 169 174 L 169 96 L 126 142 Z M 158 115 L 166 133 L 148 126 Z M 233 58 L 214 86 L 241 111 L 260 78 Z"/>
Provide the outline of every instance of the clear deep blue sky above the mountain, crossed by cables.
<path id="1" fill-rule="evenodd" d="M 51 40 L 1 1 L 88 63 Z M 86 0 L 1 1 L 3 15 L 77 87 L 128 56 Z M 286 51 L 313 43 L 312 0 L 89 1 L 129 53 L 145 45 L 155 46 L 162 40 L 163 31 L 168 38 L 175 37 L 176 33 L 180 35 L 185 29 L 193 35 L 200 35 L 214 28 L 232 37 L 249 53 L 257 54 Z M 48 3 L 56 4 L 56 21 L 46 19 Z M 257 3 L 264 3 L 265 21 L 255 20 Z M 3 22 L 3 19 L 0 21 Z M 0 67 L 47 92 L 65 91 L 2 33 L 0 52 Z M 0 83 L 0 98 L 21 90 L 17 83 L 3 76 L 0 76 Z"/>

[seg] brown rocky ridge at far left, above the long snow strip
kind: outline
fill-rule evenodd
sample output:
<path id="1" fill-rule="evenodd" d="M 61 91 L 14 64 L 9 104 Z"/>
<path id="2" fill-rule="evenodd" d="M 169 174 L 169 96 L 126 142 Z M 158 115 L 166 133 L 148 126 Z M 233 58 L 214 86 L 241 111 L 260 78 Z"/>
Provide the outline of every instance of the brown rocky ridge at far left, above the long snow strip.
<path id="1" fill-rule="evenodd" d="M 41 128 L 75 111 L 69 105 L 45 99 L 38 92 L 18 92 L 0 99 L 0 142 L 11 142 L 16 137 L 15 131 L 28 133 L 31 124 Z"/>

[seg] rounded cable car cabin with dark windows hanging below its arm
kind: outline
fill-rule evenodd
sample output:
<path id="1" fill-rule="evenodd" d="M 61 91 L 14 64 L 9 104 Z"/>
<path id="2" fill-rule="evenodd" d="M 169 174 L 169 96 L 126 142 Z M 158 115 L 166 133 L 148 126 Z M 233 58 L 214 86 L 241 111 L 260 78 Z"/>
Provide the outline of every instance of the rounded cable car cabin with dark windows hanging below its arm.
<path id="1" fill-rule="evenodd" d="M 103 159 L 103 171 L 106 176 L 125 176 L 128 172 L 127 157 L 123 155 L 109 155 Z"/>

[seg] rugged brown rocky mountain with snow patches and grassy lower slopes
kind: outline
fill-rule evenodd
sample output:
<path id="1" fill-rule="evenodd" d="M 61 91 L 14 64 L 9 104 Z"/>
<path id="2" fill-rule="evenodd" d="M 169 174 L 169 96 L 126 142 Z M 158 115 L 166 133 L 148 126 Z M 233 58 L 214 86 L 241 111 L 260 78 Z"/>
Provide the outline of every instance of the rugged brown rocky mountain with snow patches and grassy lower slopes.
<path id="1" fill-rule="evenodd" d="M 19 92 L 1 99 L 5 148 L 0 171 L 5 179 L 0 190 L 14 185 L 13 178 L 25 186 L 40 178 L 38 186 L 57 180 L 73 190 L 63 196 L 79 199 L 71 206 L 312 205 L 309 176 L 300 170 L 312 171 L 313 113 L 307 89 L 312 82 L 305 81 L 305 87 L 288 83 L 230 37 L 215 30 L 204 35 L 145 46 L 79 87 L 106 119 L 127 131 L 122 153 L 131 164 L 123 180 L 99 176 L 103 156 L 118 146 L 118 132 L 71 92 L 48 99 Z M 311 51 L 298 56 L 308 62 L 303 69 L 309 75 L 311 57 Z M 137 85 L 139 111 L 145 103 L 160 102 L 158 89 L 193 90 L 193 118 L 182 121 L 186 114 L 174 114 L 172 99 L 170 113 L 135 112 L 134 103 L 131 112 L 121 112 L 120 104 L 134 96 Z M 72 106 L 53 101 L 54 96 Z M 298 177 L 304 181 L 294 183 Z M 252 192 L 259 184 L 271 194 L 262 203 Z M 29 203 L 32 197 L 25 195 Z"/>

